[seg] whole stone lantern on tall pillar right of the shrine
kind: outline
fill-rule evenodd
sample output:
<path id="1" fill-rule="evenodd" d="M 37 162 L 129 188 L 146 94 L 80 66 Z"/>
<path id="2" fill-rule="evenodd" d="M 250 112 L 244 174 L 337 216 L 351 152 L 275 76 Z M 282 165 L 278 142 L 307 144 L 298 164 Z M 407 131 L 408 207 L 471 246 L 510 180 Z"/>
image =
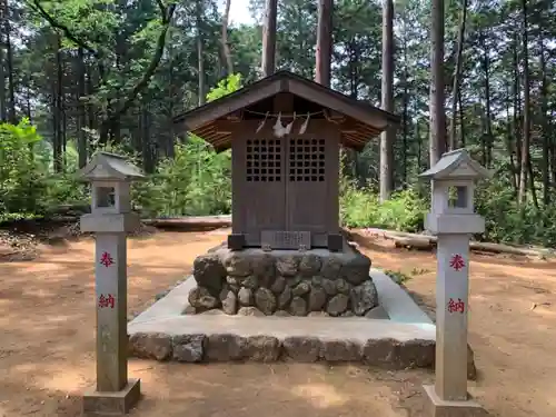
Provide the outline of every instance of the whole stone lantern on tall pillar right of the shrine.
<path id="1" fill-rule="evenodd" d="M 425 228 L 438 237 L 436 278 L 436 381 L 425 386 L 434 417 L 483 413 L 467 393 L 469 239 L 485 230 L 474 211 L 474 188 L 490 172 L 465 149 L 444 153 L 423 179 L 431 182 L 431 211 Z"/>

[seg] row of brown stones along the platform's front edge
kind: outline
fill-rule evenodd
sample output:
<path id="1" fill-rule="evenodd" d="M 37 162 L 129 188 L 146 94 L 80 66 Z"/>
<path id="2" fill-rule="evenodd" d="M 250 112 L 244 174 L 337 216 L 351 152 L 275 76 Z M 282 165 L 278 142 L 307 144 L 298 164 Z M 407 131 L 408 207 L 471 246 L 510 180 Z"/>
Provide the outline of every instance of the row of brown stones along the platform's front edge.
<path id="1" fill-rule="evenodd" d="M 181 363 L 291 360 L 297 363 L 363 363 L 388 369 L 430 368 L 435 342 L 394 339 L 322 340 L 315 337 L 240 337 L 231 334 L 180 335 L 135 334 L 130 355 L 160 361 Z"/>

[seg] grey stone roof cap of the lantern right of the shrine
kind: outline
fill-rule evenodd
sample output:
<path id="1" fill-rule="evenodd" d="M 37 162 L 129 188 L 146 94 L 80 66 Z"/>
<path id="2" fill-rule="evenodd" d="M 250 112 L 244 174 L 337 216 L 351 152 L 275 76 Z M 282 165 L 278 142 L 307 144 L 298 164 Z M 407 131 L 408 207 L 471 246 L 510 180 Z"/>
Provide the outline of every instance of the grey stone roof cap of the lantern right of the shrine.
<path id="1" fill-rule="evenodd" d="M 423 179 L 478 180 L 492 177 L 493 173 L 471 159 L 466 149 L 444 153 L 434 167 L 419 175 Z"/>

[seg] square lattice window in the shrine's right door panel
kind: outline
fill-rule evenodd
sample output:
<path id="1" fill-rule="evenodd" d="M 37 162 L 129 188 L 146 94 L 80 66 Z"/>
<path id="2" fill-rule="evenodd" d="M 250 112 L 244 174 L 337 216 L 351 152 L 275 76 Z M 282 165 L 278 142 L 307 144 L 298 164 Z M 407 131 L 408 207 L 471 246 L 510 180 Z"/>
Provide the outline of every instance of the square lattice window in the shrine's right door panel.
<path id="1" fill-rule="evenodd" d="M 325 139 L 290 139 L 288 157 L 290 182 L 325 180 Z"/>

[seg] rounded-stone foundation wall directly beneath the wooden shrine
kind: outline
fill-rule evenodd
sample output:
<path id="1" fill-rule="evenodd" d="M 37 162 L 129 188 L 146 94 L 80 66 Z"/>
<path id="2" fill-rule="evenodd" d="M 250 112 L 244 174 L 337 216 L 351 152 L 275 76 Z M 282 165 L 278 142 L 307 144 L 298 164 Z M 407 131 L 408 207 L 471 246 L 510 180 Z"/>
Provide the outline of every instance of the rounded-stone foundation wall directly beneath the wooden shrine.
<path id="1" fill-rule="evenodd" d="M 342 252 L 219 247 L 195 260 L 186 314 L 373 317 L 378 295 L 369 268 L 347 245 Z"/>

